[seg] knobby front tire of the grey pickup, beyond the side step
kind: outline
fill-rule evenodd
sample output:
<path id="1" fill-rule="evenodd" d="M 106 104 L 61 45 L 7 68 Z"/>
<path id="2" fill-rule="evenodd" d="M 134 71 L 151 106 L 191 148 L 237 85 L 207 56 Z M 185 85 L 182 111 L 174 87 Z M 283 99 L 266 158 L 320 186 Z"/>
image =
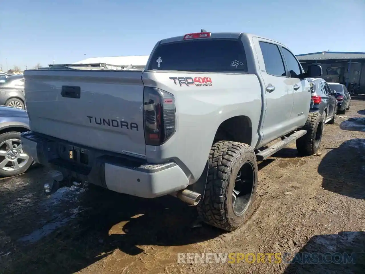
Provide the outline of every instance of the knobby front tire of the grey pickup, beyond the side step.
<path id="1" fill-rule="evenodd" d="M 307 133 L 296 140 L 299 155 L 310 156 L 318 151 L 320 142 L 322 141 L 323 126 L 323 115 L 319 112 L 310 112 L 308 114 L 306 125 L 303 127 L 303 129 L 307 130 Z M 320 130 L 320 133 L 318 133 L 320 136 L 319 141 L 316 142 L 318 130 Z"/>

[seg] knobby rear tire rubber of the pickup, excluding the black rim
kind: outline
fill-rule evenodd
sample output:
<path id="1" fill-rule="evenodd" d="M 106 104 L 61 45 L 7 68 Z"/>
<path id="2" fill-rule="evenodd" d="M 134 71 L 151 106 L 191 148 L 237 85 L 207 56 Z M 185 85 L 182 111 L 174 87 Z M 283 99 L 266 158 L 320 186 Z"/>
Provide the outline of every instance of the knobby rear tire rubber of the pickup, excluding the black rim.
<path id="1" fill-rule="evenodd" d="M 251 146 L 239 142 L 219 141 L 212 145 L 209 154 L 209 171 L 203 201 L 197 205 L 200 218 L 214 227 L 226 231 L 239 228 L 249 218 L 257 189 L 258 167 Z M 250 162 L 253 167 L 253 191 L 241 216 L 233 211 L 232 193 L 235 178 L 243 166 Z"/>

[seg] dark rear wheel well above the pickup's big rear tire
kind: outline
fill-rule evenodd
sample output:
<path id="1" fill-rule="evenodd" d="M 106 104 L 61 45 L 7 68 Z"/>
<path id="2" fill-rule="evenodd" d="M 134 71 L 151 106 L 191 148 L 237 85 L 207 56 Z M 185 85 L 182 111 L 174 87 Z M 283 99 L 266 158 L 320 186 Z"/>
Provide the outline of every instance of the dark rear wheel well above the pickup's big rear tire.
<path id="1" fill-rule="evenodd" d="M 214 142 L 225 140 L 251 145 L 252 123 L 247 116 L 235 116 L 223 121 L 214 136 Z"/>

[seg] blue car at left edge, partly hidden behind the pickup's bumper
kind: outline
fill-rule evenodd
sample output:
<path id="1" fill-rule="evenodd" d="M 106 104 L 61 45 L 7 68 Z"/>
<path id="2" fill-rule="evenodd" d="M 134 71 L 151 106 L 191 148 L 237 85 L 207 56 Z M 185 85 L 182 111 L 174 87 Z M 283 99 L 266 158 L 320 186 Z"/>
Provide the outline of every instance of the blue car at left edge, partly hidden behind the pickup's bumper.
<path id="1" fill-rule="evenodd" d="M 0 176 L 26 172 L 33 160 L 23 150 L 20 133 L 29 131 L 25 110 L 0 106 Z"/>

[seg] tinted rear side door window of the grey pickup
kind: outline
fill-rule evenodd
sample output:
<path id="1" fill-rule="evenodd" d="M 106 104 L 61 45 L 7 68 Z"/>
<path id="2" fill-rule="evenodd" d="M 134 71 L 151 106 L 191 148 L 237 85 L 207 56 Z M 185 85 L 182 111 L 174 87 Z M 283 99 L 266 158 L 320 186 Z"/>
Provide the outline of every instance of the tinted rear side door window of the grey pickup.
<path id="1" fill-rule="evenodd" d="M 274 76 L 287 76 L 278 46 L 267 42 L 259 42 L 259 44 L 262 57 L 264 57 L 266 73 Z"/>

